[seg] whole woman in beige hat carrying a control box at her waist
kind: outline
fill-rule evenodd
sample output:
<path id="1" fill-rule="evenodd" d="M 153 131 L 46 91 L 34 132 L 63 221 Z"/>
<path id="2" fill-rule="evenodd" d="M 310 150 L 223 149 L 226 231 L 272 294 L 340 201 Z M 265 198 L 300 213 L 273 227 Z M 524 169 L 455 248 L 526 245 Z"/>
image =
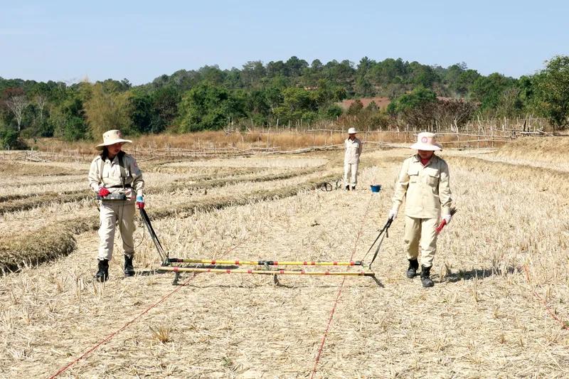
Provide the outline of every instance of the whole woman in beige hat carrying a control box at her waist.
<path id="1" fill-rule="evenodd" d="M 134 203 L 144 208 L 144 180 L 137 161 L 122 151 L 122 145 L 132 143 L 123 139 L 119 130 L 109 130 L 97 145 L 101 154 L 93 159 L 89 170 L 89 186 L 100 199 L 100 228 L 98 271 L 95 279 L 105 282 L 109 278 L 109 261 L 115 244 L 115 230 L 119 225 L 124 252 L 124 275 L 132 277 L 134 267 Z"/>

